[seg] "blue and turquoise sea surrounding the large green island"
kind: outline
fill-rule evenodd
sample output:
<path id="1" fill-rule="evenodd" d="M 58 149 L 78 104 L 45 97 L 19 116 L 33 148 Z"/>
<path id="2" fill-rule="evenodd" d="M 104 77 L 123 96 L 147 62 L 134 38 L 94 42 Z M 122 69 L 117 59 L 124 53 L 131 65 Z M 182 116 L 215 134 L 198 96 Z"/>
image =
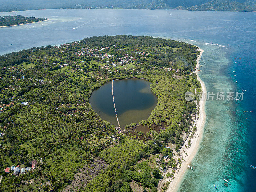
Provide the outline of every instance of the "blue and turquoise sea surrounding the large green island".
<path id="1" fill-rule="evenodd" d="M 200 77 L 215 95 L 206 101 L 202 143 L 192 161 L 195 171 L 187 170 L 179 192 L 216 191 L 214 184 L 217 191 L 256 191 L 256 170 L 250 168 L 256 165 L 256 12 L 61 9 L 0 15 L 49 19 L 0 28 L 0 54 L 117 34 L 171 38 L 204 49 Z M 247 90 L 242 101 L 226 100 L 227 92 L 242 89 Z M 225 100 L 216 100 L 218 92 L 224 92 Z M 228 187 L 223 179 L 231 180 Z"/>

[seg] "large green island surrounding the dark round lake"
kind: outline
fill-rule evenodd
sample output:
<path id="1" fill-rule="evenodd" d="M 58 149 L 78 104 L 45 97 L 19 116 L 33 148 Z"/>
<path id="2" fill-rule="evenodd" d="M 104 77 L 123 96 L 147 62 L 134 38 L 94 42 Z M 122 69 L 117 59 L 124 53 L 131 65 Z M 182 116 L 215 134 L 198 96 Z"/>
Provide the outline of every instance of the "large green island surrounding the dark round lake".
<path id="1" fill-rule="evenodd" d="M 0 56 L 0 191 L 170 191 L 201 138 L 203 101 L 185 100 L 205 91 L 201 54 L 118 35 Z M 90 106 L 93 90 L 122 78 L 151 82 L 158 102 L 138 122 L 147 133 L 119 130 Z"/>

